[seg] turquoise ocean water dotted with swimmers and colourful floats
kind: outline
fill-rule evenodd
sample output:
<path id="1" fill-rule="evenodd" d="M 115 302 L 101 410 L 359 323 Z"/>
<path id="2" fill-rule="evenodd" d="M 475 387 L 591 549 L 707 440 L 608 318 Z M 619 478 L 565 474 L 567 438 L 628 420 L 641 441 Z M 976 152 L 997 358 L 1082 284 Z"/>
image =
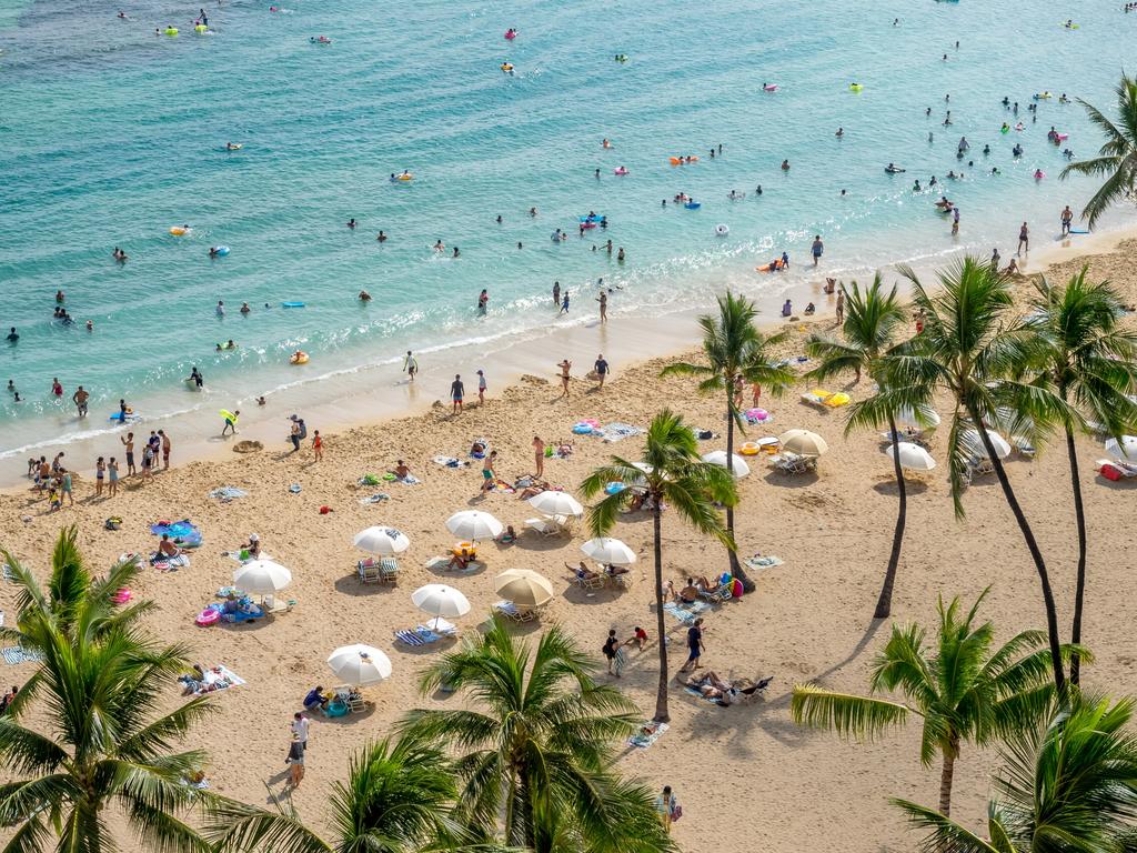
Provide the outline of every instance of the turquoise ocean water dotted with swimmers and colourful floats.
<path id="1" fill-rule="evenodd" d="M 122 396 L 151 415 L 202 405 L 181 381 L 191 365 L 227 405 L 301 379 L 287 364 L 297 348 L 312 353 L 310 381 L 412 347 L 542 334 L 595 314 L 599 276 L 621 287 L 613 314 L 650 315 L 709 287 L 782 287 L 754 265 L 782 249 L 805 260 L 814 233 L 823 270 L 846 276 L 960 247 L 1007 257 L 1022 220 L 1036 245 L 1052 241 L 1062 206 L 1080 209 L 1093 187 L 1056 180 L 1046 132 L 1069 133 L 1079 156 L 1099 143 L 1057 94 L 1112 107 L 1137 43 L 1137 14 L 1120 0 L 279 0 L 276 13 L 269 0 L 214 0 L 200 36 L 200 2 L 122 2 L 128 20 L 105 3 L 0 0 L 0 325 L 22 336 L 0 346 L 0 381 L 25 397 L 0 395 L 0 455 L 107 428 Z M 1078 30 L 1060 25 L 1068 17 Z M 181 35 L 155 34 L 167 24 Z M 309 41 L 321 34 L 332 44 Z M 515 74 L 499 71 L 506 59 Z M 1027 106 L 1044 90 L 1055 98 L 1032 124 Z M 1020 119 L 1023 132 L 998 132 Z M 961 135 L 973 168 L 955 157 Z M 226 152 L 230 140 L 243 149 Z M 686 154 L 699 163 L 667 164 Z M 886 175 L 890 160 L 907 174 Z M 621 165 L 631 174 L 615 176 Z M 993 165 L 1003 174 L 985 174 Z M 947 185 L 962 210 L 953 241 L 938 196 L 911 185 L 961 167 L 966 180 Z M 414 181 L 388 180 L 405 168 Z M 729 200 L 732 189 L 746 198 Z M 702 208 L 661 206 L 680 191 Z M 580 239 L 590 210 L 611 226 Z M 192 233 L 169 235 L 181 223 Z M 555 227 L 571 238 L 555 245 Z M 625 263 L 592 251 L 608 238 Z M 437 239 L 460 258 L 433 252 Z M 215 245 L 231 254 L 210 260 Z M 553 310 L 554 280 L 574 296 L 568 318 Z M 74 326 L 51 318 L 57 288 Z M 355 299 L 362 288 L 370 305 Z M 214 351 L 230 338 L 236 350 Z M 49 398 L 52 376 L 67 398 L 80 383 L 92 392 L 88 423 Z"/>

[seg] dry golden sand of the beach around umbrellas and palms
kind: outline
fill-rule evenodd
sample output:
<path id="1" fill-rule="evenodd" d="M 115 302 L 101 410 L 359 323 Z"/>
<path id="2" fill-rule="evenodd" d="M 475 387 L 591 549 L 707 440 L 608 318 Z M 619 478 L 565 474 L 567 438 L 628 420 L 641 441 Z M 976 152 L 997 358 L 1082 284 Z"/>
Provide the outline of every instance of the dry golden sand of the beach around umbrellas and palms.
<path id="1" fill-rule="evenodd" d="M 1087 249 L 1096 254 L 1077 254 Z M 1040 255 L 1027 267 L 1029 272 L 1040 268 Z M 1009 257 L 1004 252 L 1004 263 Z M 1111 280 L 1129 304 L 1137 301 L 1135 240 L 1112 249 L 1087 242 L 1046 259 L 1054 262 L 1047 271 L 1052 281 L 1064 280 L 1088 263 L 1093 279 Z M 893 278 L 886 273 L 886 280 Z M 1028 280 L 1021 279 L 1016 296 L 1029 297 L 1029 291 Z M 808 334 L 833 331 L 827 299 L 819 299 L 816 317 L 787 325 L 790 334 L 783 357 L 798 356 Z M 674 332 L 677 349 L 696 340 L 692 320 L 686 322 L 688 329 Z M 1134 323 L 1134 317 L 1127 322 Z M 607 329 L 574 333 L 580 336 L 578 351 L 607 351 L 612 347 L 603 346 L 600 336 L 614 341 L 621 330 L 619 321 L 613 321 Z M 697 359 L 698 353 L 682 357 Z M 426 568 L 432 556 L 448 554 L 454 546 L 443 521 L 458 510 L 491 512 L 518 531 L 534 515 L 515 494 L 481 497 L 478 462 L 442 467 L 432 461 L 437 455 L 466 459 L 471 444 L 485 438 L 499 453 L 503 479 L 513 481 L 532 473 L 534 436 L 546 442 L 573 439 L 571 457 L 549 459 L 545 474 L 555 487 L 575 491 L 583 477 L 611 454 L 637 458 L 641 445 L 637 437 L 612 445 L 573 437 L 576 421 L 596 419 L 644 428 L 659 408 L 670 406 L 691 425 L 715 432 L 724 426 L 719 398 L 697 396 L 690 380 L 659 379 L 671 357 L 626 367 L 620 363 L 603 390 L 582 379 L 591 359 L 578 362 L 567 400 L 557 399 L 556 361 L 515 359 L 503 373 L 520 373 L 520 380 L 504 390 L 491 389 L 484 405 L 467 406 L 458 416 L 451 416 L 449 405 L 423 399 L 420 405 L 425 411 L 342 431 L 325 430 L 309 417 L 309 431 L 319 429 L 324 437 L 325 455 L 318 463 L 310 442 L 298 454 L 289 453 L 283 429 L 277 429 L 279 440 L 268 440 L 262 452 L 214 454 L 160 473 L 146 485 L 123 481 L 114 499 L 93 498 L 91 479 L 84 478 L 76 486 L 76 505 L 55 514 L 48 514 L 42 497 L 26 487 L 9 490 L 0 495 L 0 544 L 42 577 L 52 543 L 66 524 L 80 525 L 81 546 L 96 570 L 109 566 L 123 553 L 151 550 L 157 540 L 149 525 L 159 520 L 189 517 L 201 527 L 204 544 L 192 552 L 190 566 L 165 574 L 147 569 L 134 593 L 156 602 L 151 627 L 164 638 L 190 644 L 202 665 L 224 664 L 246 681 L 216 695 L 218 712 L 192 732 L 189 743 L 210 752 L 208 777 L 214 789 L 248 802 L 265 802 L 266 784 L 282 789 L 289 721 L 308 689 L 332 684 L 324 663 L 327 654 L 355 641 L 387 652 L 395 672 L 366 690 L 373 703 L 366 713 L 313 720 L 307 776 L 293 802 L 305 820 L 324 827 L 327 786 L 345 778 L 355 747 L 388 732 L 410 707 L 462 701 L 416 693 L 422 666 L 446 644 L 409 649 L 392 641 L 395 630 L 425 621 L 409 601 L 410 591 L 423 583 L 447 582 L 465 593 L 473 610 L 456 621 L 467 633 L 478 630 L 498 599 L 493 577 L 513 568 L 541 572 L 556 590 L 541 622 L 518 629 L 525 633 L 556 621 L 599 656 L 608 628 L 630 636 L 636 626 L 645 627 L 649 645 L 642 653 L 632 652 L 619 686 L 650 717 L 659 638 L 649 581 L 648 515 L 625 515 L 613 533 L 640 554 L 633 583 L 622 593 L 584 593 L 568 582 L 564 563 L 580 560 L 579 546 L 589 538 L 580 528 L 565 537 L 524 532 L 512 546 L 483 544 L 479 553 L 485 568 L 472 574 Z M 467 399 L 476 399 L 472 392 L 475 378 L 471 374 L 466 380 Z M 847 391 L 854 399 L 869 392 L 866 382 L 838 386 L 831 390 Z M 879 434 L 855 432 L 843 439 L 839 411 L 819 411 L 799 400 L 810 387 L 799 383 L 782 399 L 763 397 L 774 421 L 769 428 L 750 428 L 747 438 L 790 428 L 819 432 L 831 449 L 821 458 L 818 473 L 786 475 L 755 457 L 753 473 L 739 486 L 740 555 L 777 555 L 783 563 L 755 575 L 755 594 L 704 614 L 705 665 L 724 677 L 772 676 L 765 699 L 723 709 L 684 694 L 673 681 L 670 730 L 650 748 L 629 748 L 621 757 L 624 772 L 641 777 L 653 788 L 674 788 L 686 814 L 674 827 L 683 850 L 912 850 L 918 837 L 905 829 L 887 797 L 936 802 L 938 775 L 920 765 L 915 726 L 879 743 L 852 745 L 830 734 L 799 729 L 789 718 L 795 682 L 865 689 L 866 672 L 888 631 L 887 623 L 873 622 L 871 616 L 896 511 L 891 463 L 881 452 Z M 940 404 L 940 412 L 946 413 Z M 251 436 L 241 436 L 247 437 Z M 721 449 L 724 439 L 702 445 L 704 452 Z M 1094 462 L 1105 456 L 1098 441 L 1080 438 L 1078 446 L 1090 541 L 1084 640 L 1096 655 L 1084 681 L 1090 689 L 1132 693 L 1137 691 L 1137 655 L 1128 631 L 1119 627 L 1137 618 L 1137 602 L 1128 595 L 1132 561 L 1126 556 L 1131 540 L 1127 522 L 1137 485 L 1097 475 Z M 932 440 L 932 454 L 943 463 L 943 438 Z M 421 479 L 420 485 L 357 485 L 364 474 L 381 475 L 400 458 Z M 85 459 L 76 462 L 81 470 L 88 466 Z M 1068 636 L 1077 544 L 1064 447 L 1041 448 L 1032 461 L 1012 456 L 1007 471 L 1048 561 L 1060 624 Z M 300 486 L 298 494 L 289 490 L 293 483 Z M 209 497 L 221 487 L 240 488 L 247 496 L 231 503 Z M 360 503 L 379 491 L 389 499 Z M 910 480 L 908 496 L 895 621 L 928 623 L 935 618 L 937 596 L 961 596 L 970 604 L 990 586 L 981 614 L 994 621 L 998 638 L 1043 626 L 1034 566 L 993 477 L 978 479 L 968 490 L 963 521 L 953 516 L 943 466 L 919 481 Z M 322 514 L 322 506 L 331 512 Z M 103 528 L 111 515 L 123 519 L 121 530 Z M 410 549 L 399 558 L 396 587 L 364 586 L 356 579 L 355 563 L 365 555 L 352 548 L 351 538 L 372 524 L 399 528 L 412 540 Z M 232 581 L 236 563 L 222 552 L 235 548 L 254 532 L 267 554 L 292 570 L 294 582 L 281 597 L 294 598 L 296 606 L 252 624 L 196 627 L 198 612 Z M 667 513 L 663 548 L 665 578 L 678 580 L 727 568 L 721 546 L 699 538 Z M 14 587 L 0 585 L 0 608 L 11 613 L 14 603 Z M 669 629 L 671 643 L 681 645 L 683 626 L 669 616 Z M 19 684 L 30 671 L 30 664 L 6 666 L 0 684 Z M 177 699 L 179 686 L 171 684 L 168 701 Z M 994 761 L 991 751 L 965 748 L 956 765 L 953 817 L 974 829 L 986 817 Z"/>

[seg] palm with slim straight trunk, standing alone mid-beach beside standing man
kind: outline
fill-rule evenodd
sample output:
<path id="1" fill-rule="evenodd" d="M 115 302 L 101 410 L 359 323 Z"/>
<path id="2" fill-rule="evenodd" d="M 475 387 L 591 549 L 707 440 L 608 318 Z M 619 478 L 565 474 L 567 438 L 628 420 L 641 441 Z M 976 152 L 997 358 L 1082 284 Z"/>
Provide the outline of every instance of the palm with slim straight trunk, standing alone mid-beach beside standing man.
<path id="1" fill-rule="evenodd" d="M 730 457 L 728 457 L 730 458 Z M 626 488 L 608 495 L 589 510 L 594 536 L 606 536 L 632 500 L 650 508 L 655 552 L 655 616 L 659 637 L 659 686 L 655 699 L 656 722 L 670 720 L 667 713 L 667 646 L 663 641 L 667 628 L 663 622 L 663 505 L 666 503 L 681 519 L 700 533 L 714 536 L 727 548 L 735 540 L 723 527 L 715 504 L 732 506 L 738 502 L 735 478 L 727 469 L 699 459 L 698 441 L 682 415 L 664 409 L 652 420 L 647 430 L 644 455 L 638 463 L 613 456 L 584 478 L 581 494 L 590 499 L 608 483 L 621 482 Z"/>

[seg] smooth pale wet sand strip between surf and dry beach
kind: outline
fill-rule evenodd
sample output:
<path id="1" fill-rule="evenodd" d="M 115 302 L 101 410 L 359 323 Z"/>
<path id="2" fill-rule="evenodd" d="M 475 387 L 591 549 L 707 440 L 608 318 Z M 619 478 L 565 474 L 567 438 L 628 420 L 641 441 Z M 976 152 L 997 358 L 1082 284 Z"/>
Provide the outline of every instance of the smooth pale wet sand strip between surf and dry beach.
<path id="1" fill-rule="evenodd" d="M 1072 258 L 1115 254 L 1122 243 L 1135 238 L 1137 238 L 1137 225 L 1127 224 L 1078 235 L 1077 239 L 1044 242 L 1028 254 L 1020 268 L 1023 275 L 1035 275 Z M 958 251 L 953 251 L 951 257 L 957 254 Z M 1010 257 L 1011 254 L 1004 255 L 1001 263 L 1005 265 Z M 949 258 L 938 257 L 936 262 L 929 260 L 914 268 L 921 276 L 929 276 L 937 267 L 949 263 Z M 887 275 L 894 267 L 895 264 L 890 264 L 881 272 Z M 805 268 L 812 270 L 812 267 Z M 797 273 L 796 270 L 791 272 Z M 763 331 L 773 331 L 786 324 L 779 316 L 781 304 L 786 298 L 798 306 L 795 316 L 818 322 L 832 317 L 836 301 L 835 296 L 822 291 L 827 272 L 825 267 L 820 267 L 816 274 L 807 273 L 804 279 L 791 279 L 783 288 L 770 287 L 758 293 L 753 292 L 753 288 L 747 288 L 741 292 L 755 301 L 758 308 L 758 326 Z M 841 281 L 853 281 L 869 278 L 872 272 L 865 271 L 866 275 L 863 276 L 844 274 L 837 278 Z M 756 287 L 777 282 L 778 280 L 769 282 L 760 280 Z M 904 290 L 906 291 L 906 288 Z M 591 295 L 587 298 L 591 300 Z M 818 313 L 813 317 L 804 317 L 800 314 L 808 301 L 818 305 Z M 578 305 L 582 303 L 583 299 L 578 301 Z M 583 304 L 591 309 L 591 301 Z M 305 419 L 309 437 L 316 429 L 327 437 L 358 428 L 389 425 L 393 421 L 422 414 L 439 403 L 443 406 L 449 405 L 448 389 L 451 372 L 464 376 L 467 400 L 476 399 L 474 373 L 476 365 L 485 367 L 489 381 L 488 399 L 492 399 L 505 394 L 525 375 L 553 378 L 556 373 L 555 365 L 562 357 L 568 357 L 573 362 L 574 376 L 580 380 L 580 376 L 591 368 L 591 362 L 599 353 L 604 353 L 612 364 L 614 375 L 646 361 L 686 354 L 697 348 L 699 343 L 697 317 L 712 310 L 713 307 L 713 300 L 707 299 L 702 306 L 683 306 L 663 312 L 655 317 L 642 314 L 650 310 L 649 306 L 638 306 L 624 313 L 609 309 L 609 320 L 606 324 L 601 324 L 599 317 L 594 316 L 584 322 L 547 330 L 543 334 L 540 329 L 534 328 L 531 337 L 524 337 L 517 342 L 507 341 L 499 348 L 490 347 L 485 351 L 480 350 L 487 343 L 495 341 L 458 345 L 441 350 L 446 357 L 437 364 L 430 364 L 429 353 L 428 357 L 420 356 L 421 371 L 413 384 L 408 383 L 401 373 L 401 358 L 395 358 L 384 359 L 384 363 L 379 365 L 363 365 L 330 376 L 298 382 L 293 387 L 269 395 L 264 408 L 254 408 L 252 397 L 241 398 L 236 403 L 221 403 L 214 401 L 210 395 L 191 409 L 143 417 L 131 428 L 108 426 L 100 430 L 97 436 L 72 441 L 48 439 L 39 442 L 38 449 L 28 449 L 22 456 L 44 455 L 50 458 L 61 449 L 72 459 L 76 457 L 82 459 L 80 464 L 73 463 L 68 466 L 73 472 L 84 478 L 93 478 L 97 456 L 103 455 L 108 458 L 113 455 L 122 456 L 121 450 L 118 454 L 115 453 L 121 448 L 121 444 L 115 444 L 115 438 L 125 436 L 132 430 L 144 437 L 151 429 L 164 429 L 171 432 L 171 438 L 175 442 L 172 453 L 174 463 L 171 470 L 199 461 L 219 462 L 230 457 L 231 445 L 234 441 L 232 438 L 219 438 L 216 431 L 219 415 L 216 414 L 215 406 L 221 408 L 225 405 L 233 411 L 244 406 L 240 409 L 241 432 L 235 440 L 260 441 L 266 450 L 287 449 L 288 417 L 292 413 Z M 422 366 L 423 362 L 426 362 L 425 367 Z M 325 391 L 329 386 L 334 390 L 330 397 L 309 406 L 305 398 L 309 396 L 309 389 L 314 383 L 325 386 Z M 110 450 L 106 449 L 108 445 Z M 15 450 L 3 453 L 11 454 Z M 26 488 L 26 458 L 10 456 L 0 462 L 0 465 L 2 465 L 0 492 L 14 492 Z"/>

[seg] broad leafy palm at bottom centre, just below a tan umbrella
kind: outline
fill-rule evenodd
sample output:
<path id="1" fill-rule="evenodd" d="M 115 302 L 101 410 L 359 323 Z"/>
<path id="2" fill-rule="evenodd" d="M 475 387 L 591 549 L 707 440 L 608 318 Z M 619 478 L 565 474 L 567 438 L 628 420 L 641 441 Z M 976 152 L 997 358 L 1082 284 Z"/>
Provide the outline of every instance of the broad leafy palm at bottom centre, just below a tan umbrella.
<path id="1" fill-rule="evenodd" d="M 449 685 L 465 709 L 416 710 L 400 724 L 459 751 L 455 818 L 534 853 L 672 850 L 654 800 L 612 771 L 613 745 L 636 730 L 636 706 L 592 679 L 595 659 L 553 627 L 536 652 L 495 616 L 484 635 L 443 655 L 424 694 Z"/>

